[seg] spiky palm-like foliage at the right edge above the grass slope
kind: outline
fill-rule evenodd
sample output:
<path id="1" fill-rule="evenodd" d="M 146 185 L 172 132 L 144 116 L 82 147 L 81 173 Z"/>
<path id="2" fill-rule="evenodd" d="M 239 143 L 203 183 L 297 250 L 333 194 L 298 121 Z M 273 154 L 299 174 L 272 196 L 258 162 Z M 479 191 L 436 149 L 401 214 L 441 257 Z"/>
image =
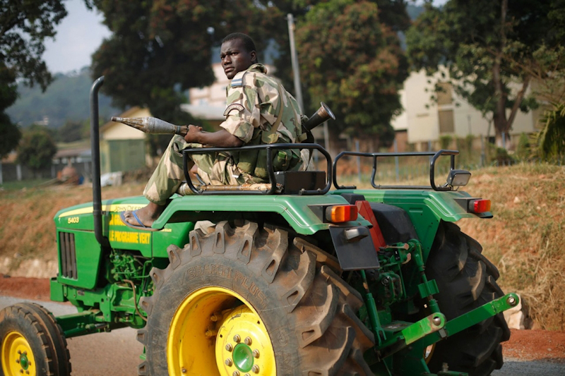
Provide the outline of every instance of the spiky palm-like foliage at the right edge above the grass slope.
<path id="1" fill-rule="evenodd" d="M 535 133 L 535 154 L 544 160 L 565 157 L 565 103 L 553 104 L 540 119 L 541 130 Z"/>

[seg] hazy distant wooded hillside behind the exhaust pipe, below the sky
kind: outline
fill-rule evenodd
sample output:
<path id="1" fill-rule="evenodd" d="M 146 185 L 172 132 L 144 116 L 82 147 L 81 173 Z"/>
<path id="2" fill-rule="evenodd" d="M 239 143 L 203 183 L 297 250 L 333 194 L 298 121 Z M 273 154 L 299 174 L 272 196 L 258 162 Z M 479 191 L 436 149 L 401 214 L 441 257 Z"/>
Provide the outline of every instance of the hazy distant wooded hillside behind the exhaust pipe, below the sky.
<path id="1" fill-rule="evenodd" d="M 40 87 L 18 86 L 19 98 L 6 110 L 14 123 L 29 126 L 32 123 L 49 119 L 49 127 L 59 128 L 67 120 L 83 121 L 90 117 L 90 86 L 93 83 L 88 68 L 78 73 L 57 73 L 54 81 L 45 92 Z M 111 106 L 111 99 L 100 95 L 100 119 L 119 114 L 121 110 Z"/>

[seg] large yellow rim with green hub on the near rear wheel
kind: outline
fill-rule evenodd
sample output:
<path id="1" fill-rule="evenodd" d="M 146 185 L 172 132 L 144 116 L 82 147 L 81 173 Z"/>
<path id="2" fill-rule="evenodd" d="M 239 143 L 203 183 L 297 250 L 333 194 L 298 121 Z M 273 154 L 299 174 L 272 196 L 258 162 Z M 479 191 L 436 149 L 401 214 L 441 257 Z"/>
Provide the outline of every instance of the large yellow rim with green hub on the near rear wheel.
<path id="1" fill-rule="evenodd" d="M 180 303 L 167 336 L 167 367 L 172 376 L 277 374 L 263 320 L 222 287 L 198 289 Z"/>

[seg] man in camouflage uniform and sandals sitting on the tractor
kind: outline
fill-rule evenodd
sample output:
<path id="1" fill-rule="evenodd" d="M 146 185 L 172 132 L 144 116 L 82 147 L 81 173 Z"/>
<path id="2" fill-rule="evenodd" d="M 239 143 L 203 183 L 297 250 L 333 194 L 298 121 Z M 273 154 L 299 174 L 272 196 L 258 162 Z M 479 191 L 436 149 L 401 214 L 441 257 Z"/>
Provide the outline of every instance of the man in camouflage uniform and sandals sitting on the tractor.
<path id="1" fill-rule="evenodd" d="M 161 157 L 143 195 L 150 203 L 122 214 L 128 226 L 150 230 L 167 200 L 184 180 L 182 153 L 186 147 L 240 147 L 243 145 L 302 142 L 302 115 L 297 102 L 280 83 L 266 75 L 258 63 L 255 44 L 247 35 L 233 33 L 222 40 L 222 67 L 231 81 L 226 88 L 226 120 L 218 132 L 208 133 L 190 125 L 188 133 L 175 135 Z M 275 171 L 303 167 L 299 150 L 273 153 Z M 211 184 L 263 183 L 268 181 L 266 151 L 192 154 L 198 175 Z"/>

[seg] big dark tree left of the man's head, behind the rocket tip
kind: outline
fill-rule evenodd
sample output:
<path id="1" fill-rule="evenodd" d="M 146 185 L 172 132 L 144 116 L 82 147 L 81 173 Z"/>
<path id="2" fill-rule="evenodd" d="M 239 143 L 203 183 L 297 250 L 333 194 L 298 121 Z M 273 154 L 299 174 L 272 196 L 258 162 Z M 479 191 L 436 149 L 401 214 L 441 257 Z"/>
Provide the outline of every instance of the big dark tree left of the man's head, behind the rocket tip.
<path id="1" fill-rule="evenodd" d="M 213 83 L 213 47 L 234 30 L 261 50 L 270 20 L 265 1 L 88 1 L 105 16 L 112 36 L 93 56 L 93 76 L 118 107 L 148 107 L 173 123 L 194 121 L 180 110 L 190 87 Z"/>

